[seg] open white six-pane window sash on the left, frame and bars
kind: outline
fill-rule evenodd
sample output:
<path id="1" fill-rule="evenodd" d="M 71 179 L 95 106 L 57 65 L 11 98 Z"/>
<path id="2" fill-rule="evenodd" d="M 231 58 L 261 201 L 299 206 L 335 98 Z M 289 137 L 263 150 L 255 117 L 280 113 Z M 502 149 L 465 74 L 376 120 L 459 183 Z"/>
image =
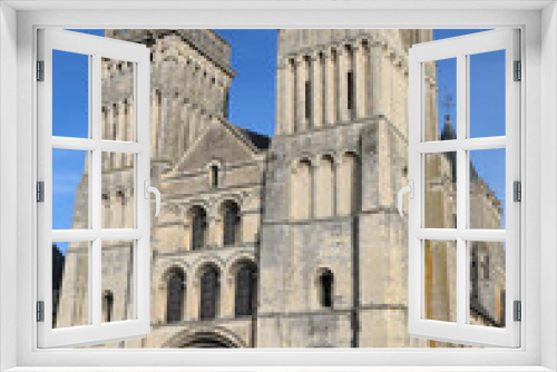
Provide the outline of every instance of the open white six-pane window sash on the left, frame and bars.
<path id="1" fill-rule="evenodd" d="M 140 339 L 150 332 L 150 180 L 149 92 L 150 51 L 129 41 L 79 32 L 38 30 L 38 59 L 43 61 L 43 81 L 38 89 L 38 180 L 43 182 L 45 200 L 37 205 L 37 298 L 43 302 L 43 321 L 38 322 L 38 347 L 69 347 L 105 343 L 109 340 Z M 88 58 L 88 138 L 52 136 L 53 50 L 80 53 Z M 107 140 L 101 135 L 102 58 L 134 63 L 134 137 L 129 141 Z M 52 229 L 52 149 L 86 150 L 89 169 L 89 228 Z M 134 226 L 101 227 L 102 153 L 131 154 L 134 157 Z M 133 241 L 133 319 L 102 323 L 101 249 L 102 241 Z M 88 242 L 88 324 L 52 329 L 52 253 L 55 242 Z"/>

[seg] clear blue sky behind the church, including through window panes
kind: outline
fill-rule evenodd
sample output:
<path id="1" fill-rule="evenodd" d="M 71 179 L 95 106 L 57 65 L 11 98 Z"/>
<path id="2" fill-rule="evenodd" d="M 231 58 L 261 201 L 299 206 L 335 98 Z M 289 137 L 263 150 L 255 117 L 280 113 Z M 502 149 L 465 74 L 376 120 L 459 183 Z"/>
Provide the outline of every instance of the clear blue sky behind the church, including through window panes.
<path id="1" fill-rule="evenodd" d="M 104 30 L 76 30 L 104 36 Z M 265 135 L 273 134 L 275 105 L 276 30 L 216 30 L 232 45 L 232 68 L 237 72 L 232 88 L 229 120 L 243 128 Z M 434 30 L 434 40 L 481 30 Z M 87 137 L 87 57 L 55 52 L 53 128 L 55 136 Z M 471 137 L 505 135 L 505 89 L 502 61 L 505 53 L 475 56 L 471 60 Z M 451 63 L 440 61 L 439 126 L 447 112 L 447 95 L 456 97 L 456 71 Z M 456 107 L 450 108 L 456 117 Z M 458 125 L 458 124 L 457 124 Z M 52 228 L 70 228 L 75 190 L 84 172 L 85 154 L 55 150 Z M 505 150 L 475 151 L 472 161 L 479 174 L 504 199 Z M 60 244 L 65 247 L 66 244 Z"/>

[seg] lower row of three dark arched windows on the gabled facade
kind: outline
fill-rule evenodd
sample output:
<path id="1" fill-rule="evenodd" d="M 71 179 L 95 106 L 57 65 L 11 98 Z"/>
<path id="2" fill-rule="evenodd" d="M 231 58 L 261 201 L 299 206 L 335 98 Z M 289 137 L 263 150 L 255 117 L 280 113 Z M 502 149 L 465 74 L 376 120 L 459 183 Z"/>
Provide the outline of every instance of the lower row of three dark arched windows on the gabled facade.
<path id="1" fill-rule="evenodd" d="M 221 315 L 222 272 L 216 265 L 206 265 L 197 280 L 193 281 L 195 295 L 189 300 L 197 302 L 197 320 L 211 321 Z M 251 316 L 255 310 L 257 272 L 252 263 L 244 262 L 234 271 L 234 316 Z M 179 323 L 185 320 L 187 304 L 187 277 L 180 267 L 172 267 L 166 275 L 165 322 Z M 194 304 L 195 305 L 195 304 Z M 193 314 L 190 314 L 193 315 Z M 189 316 L 189 319 L 195 316 Z"/>

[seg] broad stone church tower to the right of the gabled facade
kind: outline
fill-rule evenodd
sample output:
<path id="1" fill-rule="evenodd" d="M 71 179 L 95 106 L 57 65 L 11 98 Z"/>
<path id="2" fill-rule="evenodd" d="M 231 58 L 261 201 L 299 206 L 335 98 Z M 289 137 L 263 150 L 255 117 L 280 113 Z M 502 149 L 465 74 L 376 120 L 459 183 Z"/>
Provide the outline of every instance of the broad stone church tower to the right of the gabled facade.
<path id="1" fill-rule="evenodd" d="M 431 30 L 278 31 L 258 346 L 411 344 L 395 193 L 408 172 L 408 49 L 431 39 Z"/>

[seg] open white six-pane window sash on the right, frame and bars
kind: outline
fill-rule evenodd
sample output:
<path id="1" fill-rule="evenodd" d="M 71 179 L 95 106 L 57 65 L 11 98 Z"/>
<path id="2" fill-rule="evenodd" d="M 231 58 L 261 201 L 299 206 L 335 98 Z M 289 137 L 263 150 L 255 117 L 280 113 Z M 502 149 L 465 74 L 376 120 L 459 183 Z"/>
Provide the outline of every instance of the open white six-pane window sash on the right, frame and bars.
<path id="1" fill-rule="evenodd" d="M 409 199 L 409 332 L 414 336 L 439 341 L 459 340 L 465 344 L 517 347 L 520 345 L 520 323 L 514 321 L 514 301 L 520 301 L 520 203 L 512 200 L 512 183 L 520 182 L 520 84 L 514 81 L 514 62 L 520 60 L 519 31 L 501 29 L 458 38 L 423 42 L 409 53 L 409 182 L 413 198 Z M 470 56 L 505 51 L 505 135 L 470 138 Z M 457 138 L 426 140 L 424 65 L 455 58 L 457 62 Z M 470 228 L 470 150 L 505 149 L 506 229 Z M 424 216 L 424 156 L 455 151 L 457 155 L 457 227 L 427 228 Z M 456 322 L 423 317 L 424 242 L 456 243 Z M 505 242 L 506 326 L 479 326 L 470 320 L 470 243 Z"/>

